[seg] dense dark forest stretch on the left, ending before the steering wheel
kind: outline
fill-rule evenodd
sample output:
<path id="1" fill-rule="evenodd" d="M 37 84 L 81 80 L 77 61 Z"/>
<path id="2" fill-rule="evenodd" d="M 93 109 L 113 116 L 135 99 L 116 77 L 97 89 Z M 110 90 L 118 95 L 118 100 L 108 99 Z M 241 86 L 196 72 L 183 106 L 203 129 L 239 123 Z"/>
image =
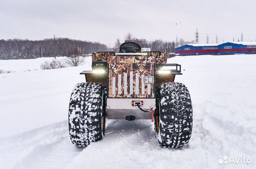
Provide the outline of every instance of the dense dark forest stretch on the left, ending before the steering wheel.
<path id="1" fill-rule="evenodd" d="M 69 51 L 79 48 L 83 54 L 108 51 L 99 42 L 73 40 L 68 38 L 44 40 L 0 40 L 0 59 L 34 59 L 38 57 L 68 56 Z"/>

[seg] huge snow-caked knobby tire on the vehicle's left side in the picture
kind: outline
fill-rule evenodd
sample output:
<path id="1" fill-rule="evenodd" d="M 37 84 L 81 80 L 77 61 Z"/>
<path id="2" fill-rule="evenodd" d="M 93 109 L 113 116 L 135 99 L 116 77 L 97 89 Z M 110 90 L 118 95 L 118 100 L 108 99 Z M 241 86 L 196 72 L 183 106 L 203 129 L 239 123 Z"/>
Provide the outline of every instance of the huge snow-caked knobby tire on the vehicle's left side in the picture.
<path id="1" fill-rule="evenodd" d="M 98 83 L 78 83 L 74 87 L 69 102 L 69 134 L 75 146 L 86 147 L 103 138 L 104 93 Z"/>

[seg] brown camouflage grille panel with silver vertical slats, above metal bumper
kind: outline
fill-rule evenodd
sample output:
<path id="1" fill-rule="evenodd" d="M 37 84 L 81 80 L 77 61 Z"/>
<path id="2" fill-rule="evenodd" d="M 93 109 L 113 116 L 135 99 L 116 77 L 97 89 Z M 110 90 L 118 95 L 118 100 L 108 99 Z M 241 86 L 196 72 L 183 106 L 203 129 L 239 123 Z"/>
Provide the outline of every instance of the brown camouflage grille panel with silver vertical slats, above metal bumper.
<path id="1" fill-rule="evenodd" d="M 154 76 L 154 64 L 109 64 L 109 98 L 154 98 L 154 83 L 144 84 L 144 76 Z"/>

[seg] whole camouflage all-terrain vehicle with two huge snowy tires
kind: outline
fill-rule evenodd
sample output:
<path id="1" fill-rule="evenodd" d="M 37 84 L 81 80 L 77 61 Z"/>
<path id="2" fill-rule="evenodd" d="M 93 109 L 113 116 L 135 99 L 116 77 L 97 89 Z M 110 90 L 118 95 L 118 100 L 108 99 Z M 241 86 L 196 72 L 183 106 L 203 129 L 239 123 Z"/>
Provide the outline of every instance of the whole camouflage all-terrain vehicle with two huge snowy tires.
<path id="1" fill-rule="evenodd" d="M 162 146 L 188 144 L 192 132 L 190 94 L 182 83 L 181 65 L 166 64 L 165 52 L 142 52 L 125 42 L 119 52 L 92 53 L 86 82 L 73 89 L 69 104 L 69 133 L 75 146 L 86 147 L 104 137 L 108 119 L 151 119 Z"/>

